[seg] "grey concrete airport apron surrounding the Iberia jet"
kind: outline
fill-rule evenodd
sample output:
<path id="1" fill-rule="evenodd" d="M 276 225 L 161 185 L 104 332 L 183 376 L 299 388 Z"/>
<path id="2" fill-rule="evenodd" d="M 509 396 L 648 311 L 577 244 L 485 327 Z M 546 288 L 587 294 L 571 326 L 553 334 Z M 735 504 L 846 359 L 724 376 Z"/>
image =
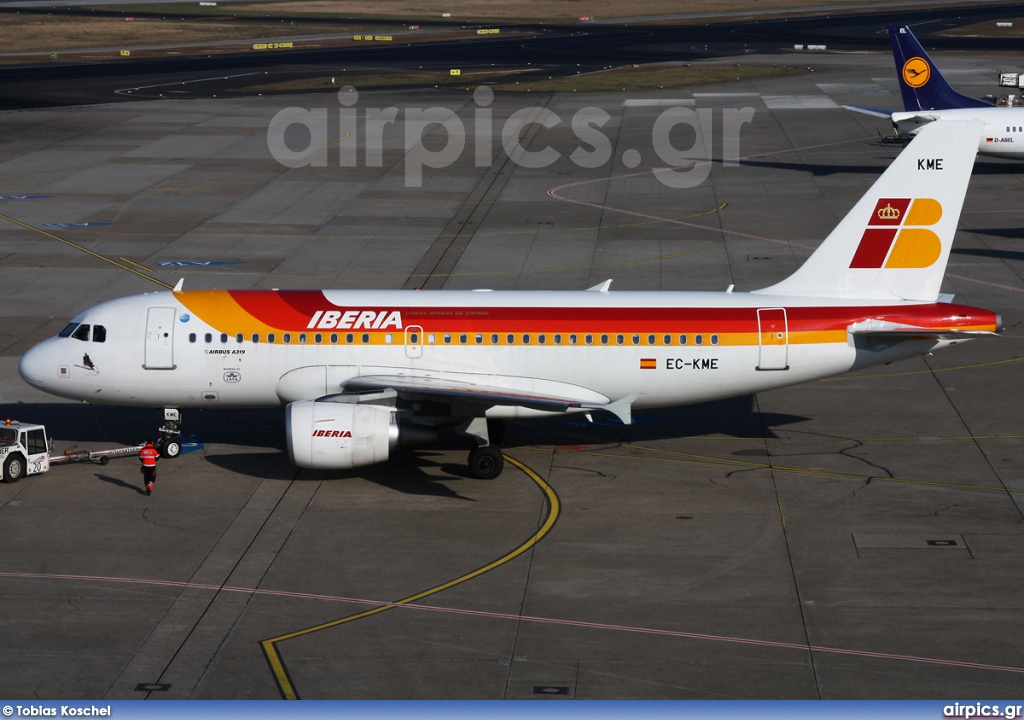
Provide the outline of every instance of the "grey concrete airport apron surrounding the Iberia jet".
<path id="1" fill-rule="evenodd" d="M 362 153 L 339 166 L 339 125 L 366 128 L 339 121 L 333 94 L 0 113 L 4 417 L 45 422 L 58 451 L 153 434 L 158 410 L 43 395 L 17 361 L 79 310 L 179 278 L 518 290 L 611 278 L 611 292 L 781 280 L 899 152 L 878 141 L 884 121 L 839 107 L 899 107 L 889 55 L 786 59 L 814 72 L 487 105 L 359 93 L 346 109 L 359 118 L 399 111 L 380 166 Z M 973 95 L 1017 61 L 936 60 Z M 780 60 L 722 60 L 738 61 Z M 326 167 L 270 156 L 268 124 L 290 107 L 326 110 Z M 410 187 L 402 120 L 433 108 L 463 121 L 466 150 Z M 506 119 L 528 108 L 560 120 L 524 130 L 527 150 L 559 155 L 547 167 L 498 153 Z M 742 160 L 694 167 L 710 176 L 692 187 L 659 181 L 651 138 L 673 108 L 711 111 L 719 160 L 725 111 L 754 109 Z M 494 153 L 477 163 L 483 110 Z M 581 167 L 570 154 L 593 147 L 570 121 L 602 111 L 611 159 Z M 286 134 L 293 149 L 303 132 Z M 670 134 L 679 149 L 693 136 Z M 943 286 L 1000 312 L 999 338 L 630 427 L 510 424 L 489 481 L 454 447 L 299 470 L 282 412 L 210 410 L 185 413 L 202 448 L 162 461 L 152 497 L 134 460 L 0 484 L 0 695 L 1019 697 L 1022 173 L 979 159 Z"/>

